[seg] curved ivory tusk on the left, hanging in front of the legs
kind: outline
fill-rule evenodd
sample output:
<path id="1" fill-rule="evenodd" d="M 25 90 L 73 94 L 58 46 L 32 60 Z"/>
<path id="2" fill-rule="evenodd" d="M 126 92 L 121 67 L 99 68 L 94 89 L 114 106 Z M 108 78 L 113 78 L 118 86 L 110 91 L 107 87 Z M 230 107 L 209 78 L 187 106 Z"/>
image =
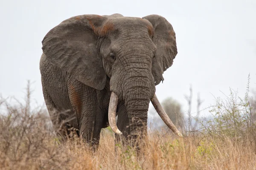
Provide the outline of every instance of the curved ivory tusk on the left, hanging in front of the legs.
<path id="1" fill-rule="evenodd" d="M 116 126 L 116 107 L 118 96 L 112 91 L 108 107 L 108 123 L 114 133 L 122 135 L 122 132 Z"/>

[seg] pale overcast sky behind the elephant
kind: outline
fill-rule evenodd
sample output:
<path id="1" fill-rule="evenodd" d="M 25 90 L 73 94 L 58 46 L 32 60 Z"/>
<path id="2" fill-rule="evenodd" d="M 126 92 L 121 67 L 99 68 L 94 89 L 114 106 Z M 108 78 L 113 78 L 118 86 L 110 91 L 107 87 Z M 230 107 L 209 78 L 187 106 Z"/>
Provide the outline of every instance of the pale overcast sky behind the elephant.
<path id="1" fill-rule="evenodd" d="M 229 94 L 243 95 L 247 76 L 256 86 L 255 0 L 6 0 L 0 2 L 0 93 L 22 99 L 26 81 L 32 82 L 33 98 L 44 103 L 39 60 L 45 34 L 63 20 L 81 14 L 130 17 L 158 14 L 176 32 L 178 54 L 157 85 L 160 101 L 177 99 L 186 109 L 189 85 L 204 100 Z M 195 109 L 195 107 L 194 107 Z"/>

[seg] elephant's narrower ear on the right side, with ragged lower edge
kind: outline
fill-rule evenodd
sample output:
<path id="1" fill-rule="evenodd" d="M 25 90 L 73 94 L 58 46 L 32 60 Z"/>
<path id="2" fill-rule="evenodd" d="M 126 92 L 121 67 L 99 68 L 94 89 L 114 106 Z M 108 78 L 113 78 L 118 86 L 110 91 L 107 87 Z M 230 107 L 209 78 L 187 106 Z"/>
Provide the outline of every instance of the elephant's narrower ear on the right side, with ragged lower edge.
<path id="1" fill-rule="evenodd" d="M 152 74 L 155 85 L 158 85 L 164 80 L 163 72 L 172 66 L 177 55 L 175 31 L 172 25 L 159 15 L 148 15 L 143 19 L 148 20 L 154 28 L 152 41 L 157 46 L 157 51 L 152 60 Z"/>

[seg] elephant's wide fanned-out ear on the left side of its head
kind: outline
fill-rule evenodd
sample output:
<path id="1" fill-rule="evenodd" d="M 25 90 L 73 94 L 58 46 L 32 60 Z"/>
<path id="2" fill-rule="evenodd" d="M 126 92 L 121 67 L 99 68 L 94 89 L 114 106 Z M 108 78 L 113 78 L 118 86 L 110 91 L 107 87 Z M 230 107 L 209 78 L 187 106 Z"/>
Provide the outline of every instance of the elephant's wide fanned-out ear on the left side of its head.
<path id="1" fill-rule="evenodd" d="M 80 82 L 102 90 L 106 74 L 96 40 L 106 20 L 99 15 L 80 15 L 64 20 L 44 37 L 43 53 L 50 62 Z"/>

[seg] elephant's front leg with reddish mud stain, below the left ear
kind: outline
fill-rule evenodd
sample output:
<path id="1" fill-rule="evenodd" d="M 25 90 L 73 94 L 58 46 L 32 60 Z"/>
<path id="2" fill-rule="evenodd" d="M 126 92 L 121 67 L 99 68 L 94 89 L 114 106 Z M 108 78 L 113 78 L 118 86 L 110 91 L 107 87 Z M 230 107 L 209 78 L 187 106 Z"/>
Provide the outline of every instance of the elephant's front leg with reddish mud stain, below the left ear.
<path id="1" fill-rule="evenodd" d="M 97 148 L 104 113 L 99 105 L 96 90 L 75 79 L 69 79 L 68 83 L 70 102 L 79 124 L 79 135 L 90 146 Z"/>

